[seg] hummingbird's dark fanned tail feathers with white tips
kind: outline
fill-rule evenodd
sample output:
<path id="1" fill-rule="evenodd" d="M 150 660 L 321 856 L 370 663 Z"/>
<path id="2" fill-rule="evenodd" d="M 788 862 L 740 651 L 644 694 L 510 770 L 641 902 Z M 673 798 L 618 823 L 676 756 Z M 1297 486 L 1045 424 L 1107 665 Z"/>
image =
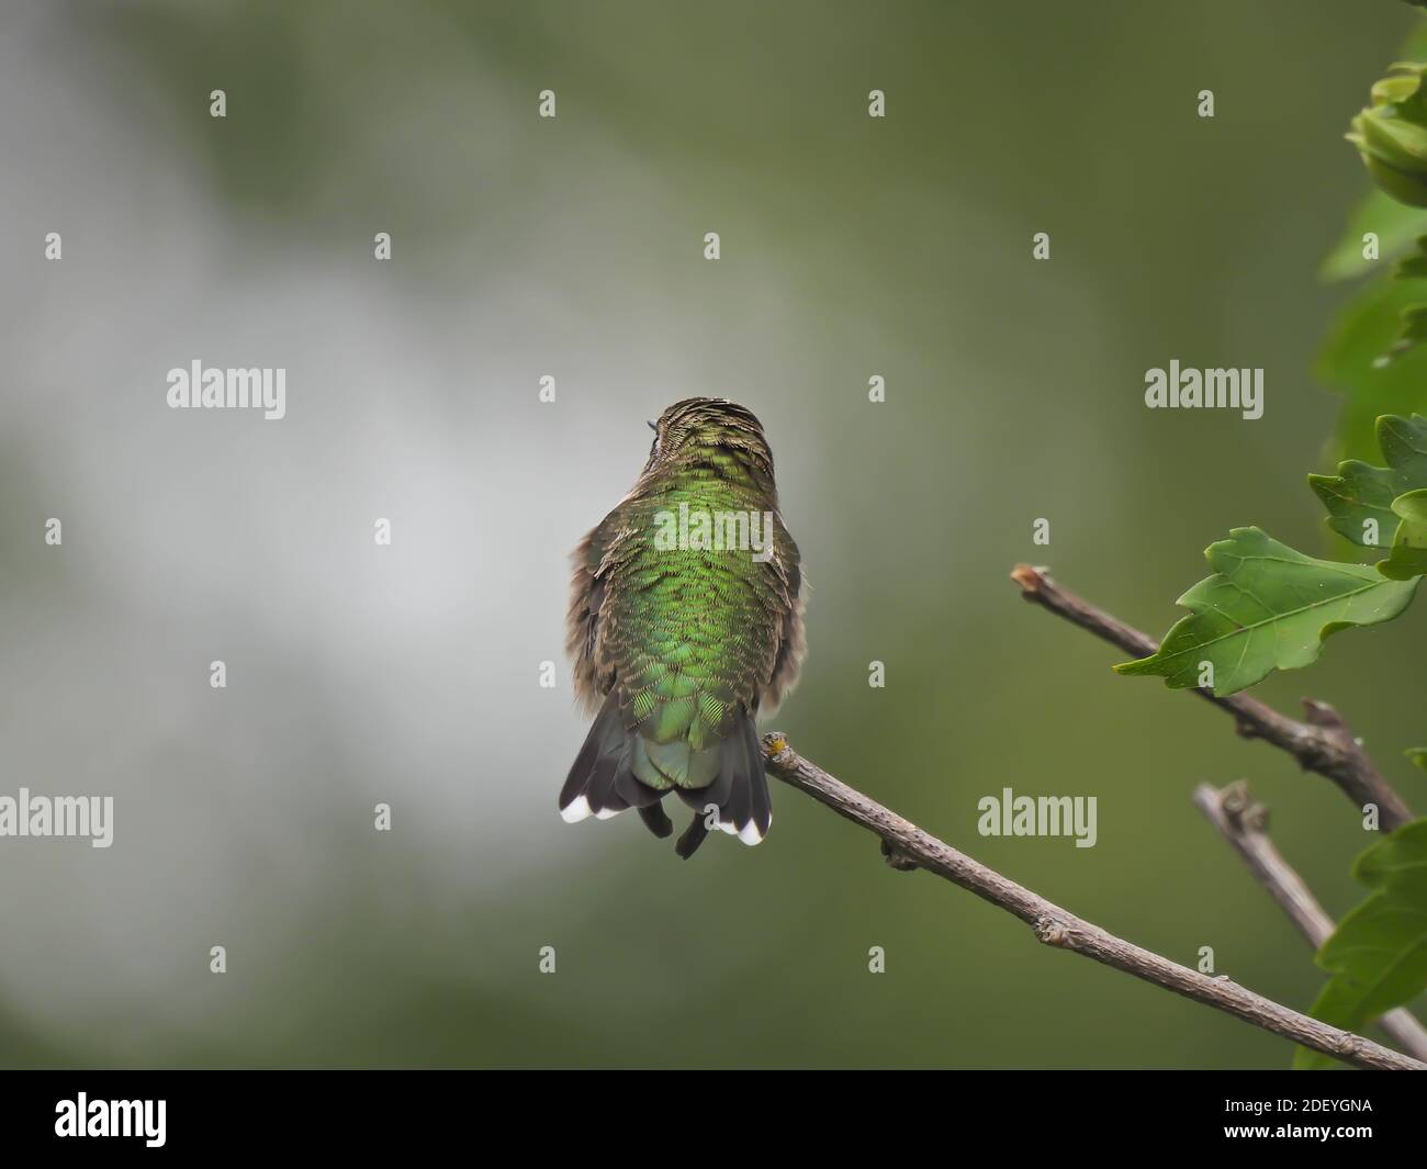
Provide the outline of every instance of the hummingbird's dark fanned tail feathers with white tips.
<path id="1" fill-rule="evenodd" d="M 585 745 L 575 756 L 561 789 L 561 818 L 569 824 L 588 816 L 609 819 L 628 808 L 638 808 L 639 818 L 649 831 L 664 838 L 674 831 L 674 825 L 661 801 L 676 791 L 679 799 L 695 812 L 694 824 L 679 838 L 675 849 L 681 856 L 694 855 L 712 828 L 738 836 L 748 845 L 755 845 L 768 835 L 773 819 L 772 801 L 763 771 L 763 751 L 751 714 L 738 714 L 732 732 L 716 748 L 712 779 L 699 786 L 686 784 L 691 768 L 676 772 L 678 778 L 685 779 L 684 784 L 659 768 L 651 772 L 661 781 L 659 786 L 639 779 L 635 775 L 636 766 L 645 769 L 664 756 L 662 751 L 651 752 L 648 748 L 638 731 L 625 729 L 618 698 L 611 692 L 595 715 Z"/>

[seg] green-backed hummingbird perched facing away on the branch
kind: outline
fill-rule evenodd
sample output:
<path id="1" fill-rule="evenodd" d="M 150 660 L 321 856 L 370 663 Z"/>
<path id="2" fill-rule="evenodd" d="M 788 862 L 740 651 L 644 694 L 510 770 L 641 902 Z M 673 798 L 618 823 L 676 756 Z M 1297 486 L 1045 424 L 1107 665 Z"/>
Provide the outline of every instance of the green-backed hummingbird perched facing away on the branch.
<path id="1" fill-rule="evenodd" d="M 559 812 L 635 808 L 662 839 L 672 792 L 694 808 L 688 859 L 711 828 L 755 845 L 772 824 L 755 719 L 798 679 L 803 574 L 751 410 L 685 398 L 649 427 L 638 481 L 571 557 L 565 649 L 595 721 Z"/>

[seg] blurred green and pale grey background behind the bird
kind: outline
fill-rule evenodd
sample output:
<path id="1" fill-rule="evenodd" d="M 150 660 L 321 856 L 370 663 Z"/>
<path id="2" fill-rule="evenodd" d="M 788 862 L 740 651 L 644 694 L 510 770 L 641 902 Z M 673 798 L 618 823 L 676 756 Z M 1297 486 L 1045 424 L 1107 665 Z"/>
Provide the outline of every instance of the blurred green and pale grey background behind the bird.
<path id="1" fill-rule="evenodd" d="M 1339 400 L 1309 371 L 1346 290 L 1317 265 L 1368 186 L 1343 131 L 1413 20 L 7 4 L 0 791 L 117 809 L 107 851 L 0 842 L 0 1063 L 1286 1066 L 781 785 L 766 844 L 688 864 L 632 818 L 561 824 L 565 558 L 645 418 L 743 401 L 812 580 L 779 729 L 1057 904 L 1306 1009 L 1306 945 L 1189 796 L 1249 778 L 1334 915 L 1351 808 L 1114 677 L 1007 572 L 1049 564 L 1159 635 L 1230 527 L 1329 547 L 1304 474 Z M 285 367 L 288 417 L 167 410 L 193 358 Z M 1147 411 L 1170 358 L 1263 367 L 1263 420 Z M 1424 637 L 1418 605 L 1257 692 L 1336 704 L 1423 808 L 1400 752 L 1427 738 Z M 1097 796 L 1099 844 L 979 838 L 1003 786 Z"/>

